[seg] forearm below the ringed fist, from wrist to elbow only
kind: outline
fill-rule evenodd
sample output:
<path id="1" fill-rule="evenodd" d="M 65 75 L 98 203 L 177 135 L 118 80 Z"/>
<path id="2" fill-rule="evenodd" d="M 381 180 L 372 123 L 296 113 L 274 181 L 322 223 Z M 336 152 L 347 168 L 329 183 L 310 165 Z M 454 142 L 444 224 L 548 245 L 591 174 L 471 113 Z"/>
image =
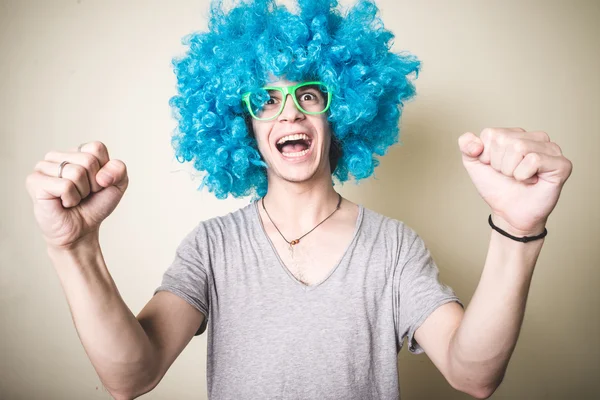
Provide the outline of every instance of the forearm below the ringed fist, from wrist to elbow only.
<path id="1" fill-rule="evenodd" d="M 123 302 L 99 244 L 48 248 L 83 347 L 104 386 L 127 398 L 153 383 L 153 348 Z M 149 388 L 148 388 L 149 390 Z"/>

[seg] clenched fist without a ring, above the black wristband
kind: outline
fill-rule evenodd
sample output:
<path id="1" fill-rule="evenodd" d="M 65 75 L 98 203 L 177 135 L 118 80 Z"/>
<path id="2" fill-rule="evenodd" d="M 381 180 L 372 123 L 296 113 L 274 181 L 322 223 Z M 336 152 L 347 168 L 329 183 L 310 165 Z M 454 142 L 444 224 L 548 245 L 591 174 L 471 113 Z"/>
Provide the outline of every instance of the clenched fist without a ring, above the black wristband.
<path id="1" fill-rule="evenodd" d="M 514 236 L 540 234 L 573 169 L 548 134 L 486 128 L 461 135 L 458 146 L 494 223 Z"/>

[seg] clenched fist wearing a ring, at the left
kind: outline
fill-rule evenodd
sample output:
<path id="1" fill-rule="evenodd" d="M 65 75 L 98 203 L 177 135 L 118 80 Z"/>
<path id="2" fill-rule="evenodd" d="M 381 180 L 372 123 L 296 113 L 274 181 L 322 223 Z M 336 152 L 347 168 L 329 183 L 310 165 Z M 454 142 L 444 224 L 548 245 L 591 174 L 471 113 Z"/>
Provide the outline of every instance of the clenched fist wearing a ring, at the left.
<path id="1" fill-rule="evenodd" d="M 85 238 L 97 240 L 100 224 L 117 207 L 128 184 L 125 164 L 111 160 L 101 142 L 49 152 L 25 181 L 46 242 L 64 249 Z"/>

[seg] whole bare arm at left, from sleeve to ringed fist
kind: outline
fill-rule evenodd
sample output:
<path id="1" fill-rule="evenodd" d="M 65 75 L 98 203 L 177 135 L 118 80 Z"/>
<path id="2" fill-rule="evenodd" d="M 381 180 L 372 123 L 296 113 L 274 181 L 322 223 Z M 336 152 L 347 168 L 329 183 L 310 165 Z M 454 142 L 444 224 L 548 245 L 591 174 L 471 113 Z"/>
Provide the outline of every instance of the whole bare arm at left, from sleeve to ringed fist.
<path id="1" fill-rule="evenodd" d="M 159 293 L 138 321 L 119 295 L 98 237 L 128 184 L 126 165 L 98 141 L 47 153 L 25 181 L 81 343 L 117 399 L 151 390 L 204 318 L 177 296 Z"/>

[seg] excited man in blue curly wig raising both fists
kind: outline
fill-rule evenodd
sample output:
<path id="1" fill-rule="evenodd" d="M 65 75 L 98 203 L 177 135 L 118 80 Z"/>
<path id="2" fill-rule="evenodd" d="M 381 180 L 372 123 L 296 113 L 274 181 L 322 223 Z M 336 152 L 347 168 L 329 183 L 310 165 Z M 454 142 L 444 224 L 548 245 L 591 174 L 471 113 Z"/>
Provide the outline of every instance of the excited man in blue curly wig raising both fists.
<path id="1" fill-rule="evenodd" d="M 373 154 L 397 140 L 397 105 L 413 94 L 406 75 L 418 62 L 387 52 L 391 35 L 368 2 L 345 18 L 335 2 L 299 3 L 300 16 L 269 1 L 227 14 L 216 3 L 211 31 L 176 62 L 177 156 L 206 171 L 218 197 L 258 197 L 200 222 L 137 318 L 98 243 L 127 188 L 125 165 L 92 142 L 49 152 L 29 175 L 82 344 L 118 399 L 152 390 L 204 331 L 213 398 L 399 398 L 405 338 L 452 386 L 489 397 L 571 163 L 544 132 L 460 137 L 494 228 L 463 311 L 414 231 L 333 186 L 332 175 L 368 177 Z"/>

